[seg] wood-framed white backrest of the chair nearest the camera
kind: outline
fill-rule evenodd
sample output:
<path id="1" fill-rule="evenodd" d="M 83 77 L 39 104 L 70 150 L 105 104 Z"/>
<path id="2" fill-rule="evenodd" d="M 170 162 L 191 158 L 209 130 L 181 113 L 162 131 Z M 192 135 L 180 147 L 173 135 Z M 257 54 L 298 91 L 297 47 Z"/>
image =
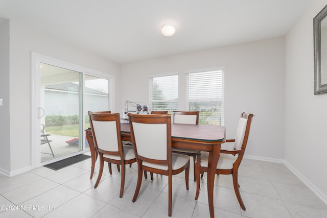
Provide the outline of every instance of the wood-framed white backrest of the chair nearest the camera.
<path id="1" fill-rule="evenodd" d="M 171 115 L 128 116 L 136 158 L 152 163 L 171 163 Z"/>

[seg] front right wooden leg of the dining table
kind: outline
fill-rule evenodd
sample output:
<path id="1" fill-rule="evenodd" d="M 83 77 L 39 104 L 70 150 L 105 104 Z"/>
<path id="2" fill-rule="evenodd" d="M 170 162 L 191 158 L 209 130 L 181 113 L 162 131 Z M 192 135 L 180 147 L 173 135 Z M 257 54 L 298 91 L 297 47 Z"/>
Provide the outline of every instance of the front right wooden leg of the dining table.
<path id="1" fill-rule="evenodd" d="M 207 189 L 208 189 L 208 204 L 210 217 L 214 218 L 214 183 L 217 163 L 220 156 L 220 146 L 214 146 L 213 151 L 209 152 L 208 160 L 208 175 L 207 175 Z"/>

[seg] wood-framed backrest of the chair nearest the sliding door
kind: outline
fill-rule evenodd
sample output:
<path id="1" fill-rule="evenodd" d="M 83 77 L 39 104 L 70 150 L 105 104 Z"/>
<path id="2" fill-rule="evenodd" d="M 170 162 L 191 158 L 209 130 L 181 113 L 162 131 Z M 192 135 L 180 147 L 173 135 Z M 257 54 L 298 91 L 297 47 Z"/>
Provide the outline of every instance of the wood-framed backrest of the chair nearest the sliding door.
<path id="1" fill-rule="evenodd" d="M 96 148 L 101 153 L 123 155 L 119 113 L 88 112 Z"/>

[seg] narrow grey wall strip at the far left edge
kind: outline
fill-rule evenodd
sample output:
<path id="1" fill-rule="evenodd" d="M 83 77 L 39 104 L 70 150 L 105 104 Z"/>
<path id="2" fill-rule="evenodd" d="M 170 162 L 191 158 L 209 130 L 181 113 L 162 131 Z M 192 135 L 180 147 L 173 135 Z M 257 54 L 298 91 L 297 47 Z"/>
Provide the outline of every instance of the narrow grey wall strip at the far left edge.
<path id="1" fill-rule="evenodd" d="M 9 123 L 9 20 L 0 19 L 0 172 L 10 171 Z"/>

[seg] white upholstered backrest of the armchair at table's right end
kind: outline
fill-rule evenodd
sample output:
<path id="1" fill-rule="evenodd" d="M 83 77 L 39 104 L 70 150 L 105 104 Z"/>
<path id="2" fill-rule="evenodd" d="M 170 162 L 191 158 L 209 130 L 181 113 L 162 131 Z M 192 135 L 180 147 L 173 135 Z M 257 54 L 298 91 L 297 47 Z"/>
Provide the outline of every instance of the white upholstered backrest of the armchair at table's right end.
<path id="1" fill-rule="evenodd" d="M 234 149 L 245 149 L 250 132 L 253 114 L 242 113 L 237 126 Z"/>

